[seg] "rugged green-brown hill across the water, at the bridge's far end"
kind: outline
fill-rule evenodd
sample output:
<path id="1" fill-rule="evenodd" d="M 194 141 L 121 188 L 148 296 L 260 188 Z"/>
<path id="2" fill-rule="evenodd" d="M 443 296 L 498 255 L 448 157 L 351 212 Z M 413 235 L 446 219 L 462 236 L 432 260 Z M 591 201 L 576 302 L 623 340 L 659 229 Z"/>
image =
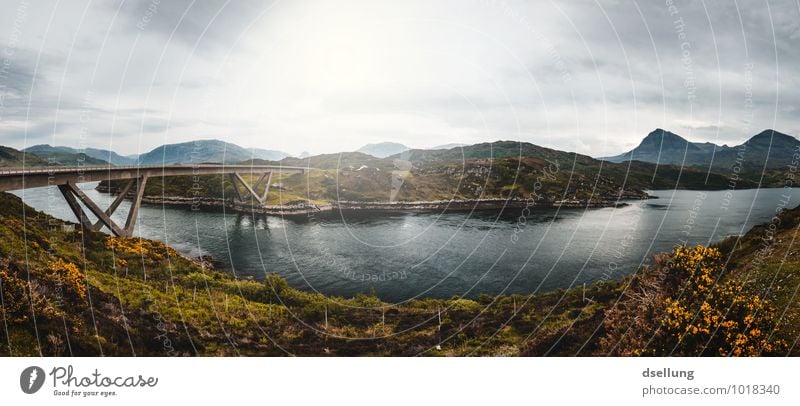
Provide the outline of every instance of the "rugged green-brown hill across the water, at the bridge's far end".
<path id="1" fill-rule="evenodd" d="M 644 197 L 647 189 L 728 188 L 730 179 L 706 171 L 645 162 L 609 163 L 586 155 L 529 143 L 498 141 L 450 150 L 410 150 L 388 158 L 360 152 L 285 158 L 281 164 L 314 168 L 305 174 L 273 178 L 268 204 L 298 200 L 315 204 L 420 202 L 534 197 L 536 204 L 568 201 L 579 205 L 611 205 L 620 198 Z M 234 195 L 222 176 L 201 177 L 205 197 Z M 118 186 L 114 184 L 114 186 Z M 737 187 L 754 187 L 741 180 Z M 105 187 L 105 184 L 102 184 Z M 148 196 L 192 197 L 186 180 L 148 182 Z"/>

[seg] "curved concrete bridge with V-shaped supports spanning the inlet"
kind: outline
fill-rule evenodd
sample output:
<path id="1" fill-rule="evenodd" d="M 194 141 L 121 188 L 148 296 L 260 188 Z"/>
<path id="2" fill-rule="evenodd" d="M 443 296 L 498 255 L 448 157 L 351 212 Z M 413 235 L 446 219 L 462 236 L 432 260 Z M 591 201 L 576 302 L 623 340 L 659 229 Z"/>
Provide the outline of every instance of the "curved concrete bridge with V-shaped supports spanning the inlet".
<path id="1" fill-rule="evenodd" d="M 130 237 L 133 235 L 133 228 L 136 225 L 136 217 L 142 204 L 144 188 L 147 185 L 148 178 L 228 175 L 231 182 L 233 182 L 236 198 L 240 202 L 244 203 L 250 198 L 263 205 L 267 201 L 273 173 L 304 173 L 308 169 L 296 166 L 214 164 L 14 168 L 0 171 L 0 192 L 58 186 L 61 194 L 64 195 L 64 200 L 66 200 L 72 212 L 75 213 L 75 217 L 78 218 L 83 228 L 97 231 L 105 226 L 115 236 Z M 258 176 L 258 180 L 251 186 L 244 180 L 242 174 Z M 105 210 L 101 209 L 97 203 L 92 201 L 77 186 L 78 183 L 84 182 L 126 179 L 128 182 L 120 189 L 116 199 Z M 264 184 L 264 191 L 256 193 L 262 183 Z M 244 191 L 241 190 L 242 187 Z M 125 225 L 121 226 L 111 219 L 111 215 L 114 214 L 122 200 L 131 192 L 133 192 L 131 208 L 128 211 Z M 97 217 L 97 223 L 92 224 L 80 203 L 83 203 L 83 206 Z"/>

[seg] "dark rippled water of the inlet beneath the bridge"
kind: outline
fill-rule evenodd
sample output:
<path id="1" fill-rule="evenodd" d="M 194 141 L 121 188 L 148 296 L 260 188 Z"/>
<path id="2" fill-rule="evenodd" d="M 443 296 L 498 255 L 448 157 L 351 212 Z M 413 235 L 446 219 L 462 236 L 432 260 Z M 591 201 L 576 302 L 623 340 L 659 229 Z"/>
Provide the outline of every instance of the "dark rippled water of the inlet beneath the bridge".
<path id="1" fill-rule="evenodd" d="M 94 186 L 81 185 L 106 207 L 111 197 Z M 75 221 L 57 189 L 15 193 L 36 209 Z M 346 297 L 374 292 L 400 302 L 619 279 L 654 253 L 744 234 L 769 221 L 776 208 L 800 203 L 800 189 L 652 193 L 659 199 L 618 209 L 535 209 L 524 224 L 520 210 L 334 213 L 298 221 L 144 205 L 136 234 L 189 255 L 211 255 L 239 277 L 274 272 L 305 290 Z M 784 194 L 790 195 L 788 205 L 781 203 Z M 127 205 L 114 215 L 119 223 Z"/>

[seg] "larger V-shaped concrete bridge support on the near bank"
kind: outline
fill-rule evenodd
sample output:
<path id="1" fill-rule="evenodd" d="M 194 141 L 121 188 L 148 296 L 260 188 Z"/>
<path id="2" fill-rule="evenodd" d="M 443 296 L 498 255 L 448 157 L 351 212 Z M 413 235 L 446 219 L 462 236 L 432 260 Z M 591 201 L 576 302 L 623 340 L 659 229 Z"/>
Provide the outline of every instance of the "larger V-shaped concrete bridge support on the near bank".
<path id="1" fill-rule="evenodd" d="M 72 209 L 72 212 L 75 214 L 75 217 L 78 218 L 78 221 L 84 229 L 99 231 L 105 226 L 117 237 L 130 237 L 133 235 L 133 228 L 136 225 L 136 218 L 139 215 L 139 207 L 142 205 L 142 196 L 144 196 L 144 187 L 146 184 L 147 176 L 131 179 L 125 187 L 120 190 L 116 199 L 114 199 L 106 210 L 101 209 L 97 203 L 72 181 L 67 181 L 62 185 L 58 185 L 58 190 L 64 195 L 64 199 L 67 201 L 69 208 Z M 114 211 L 117 210 L 122 200 L 125 199 L 125 196 L 128 195 L 134 186 L 136 186 L 136 192 L 131 202 L 131 208 L 128 211 L 128 218 L 125 221 L 125 226 L 120 227 L 111 219 L 111 215 L 114 214 Z M 97 217 L 97 223 L 92 224 L 79 202 L 82 202 L 83 205 Z"/>

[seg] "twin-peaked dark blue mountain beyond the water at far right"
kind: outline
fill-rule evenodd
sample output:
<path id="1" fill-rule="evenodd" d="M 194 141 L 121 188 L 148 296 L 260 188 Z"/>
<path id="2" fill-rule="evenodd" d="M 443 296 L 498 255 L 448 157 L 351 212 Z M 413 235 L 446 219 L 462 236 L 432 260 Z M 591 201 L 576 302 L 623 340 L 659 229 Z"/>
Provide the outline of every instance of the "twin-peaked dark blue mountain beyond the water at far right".
<path id="1" fill-rule="evenodd" d="M 631 151 L 601 158 L 610 162 L 642 161 L 667 165 L 705 167 L 717 172 L 742 169 L 785 168 L 792 163 L 800 140 L 774 130 L 764 130 L 741 145 L 729 147 L 709 142 L 690 142 L 666 130 L 656 129 Z"/>

